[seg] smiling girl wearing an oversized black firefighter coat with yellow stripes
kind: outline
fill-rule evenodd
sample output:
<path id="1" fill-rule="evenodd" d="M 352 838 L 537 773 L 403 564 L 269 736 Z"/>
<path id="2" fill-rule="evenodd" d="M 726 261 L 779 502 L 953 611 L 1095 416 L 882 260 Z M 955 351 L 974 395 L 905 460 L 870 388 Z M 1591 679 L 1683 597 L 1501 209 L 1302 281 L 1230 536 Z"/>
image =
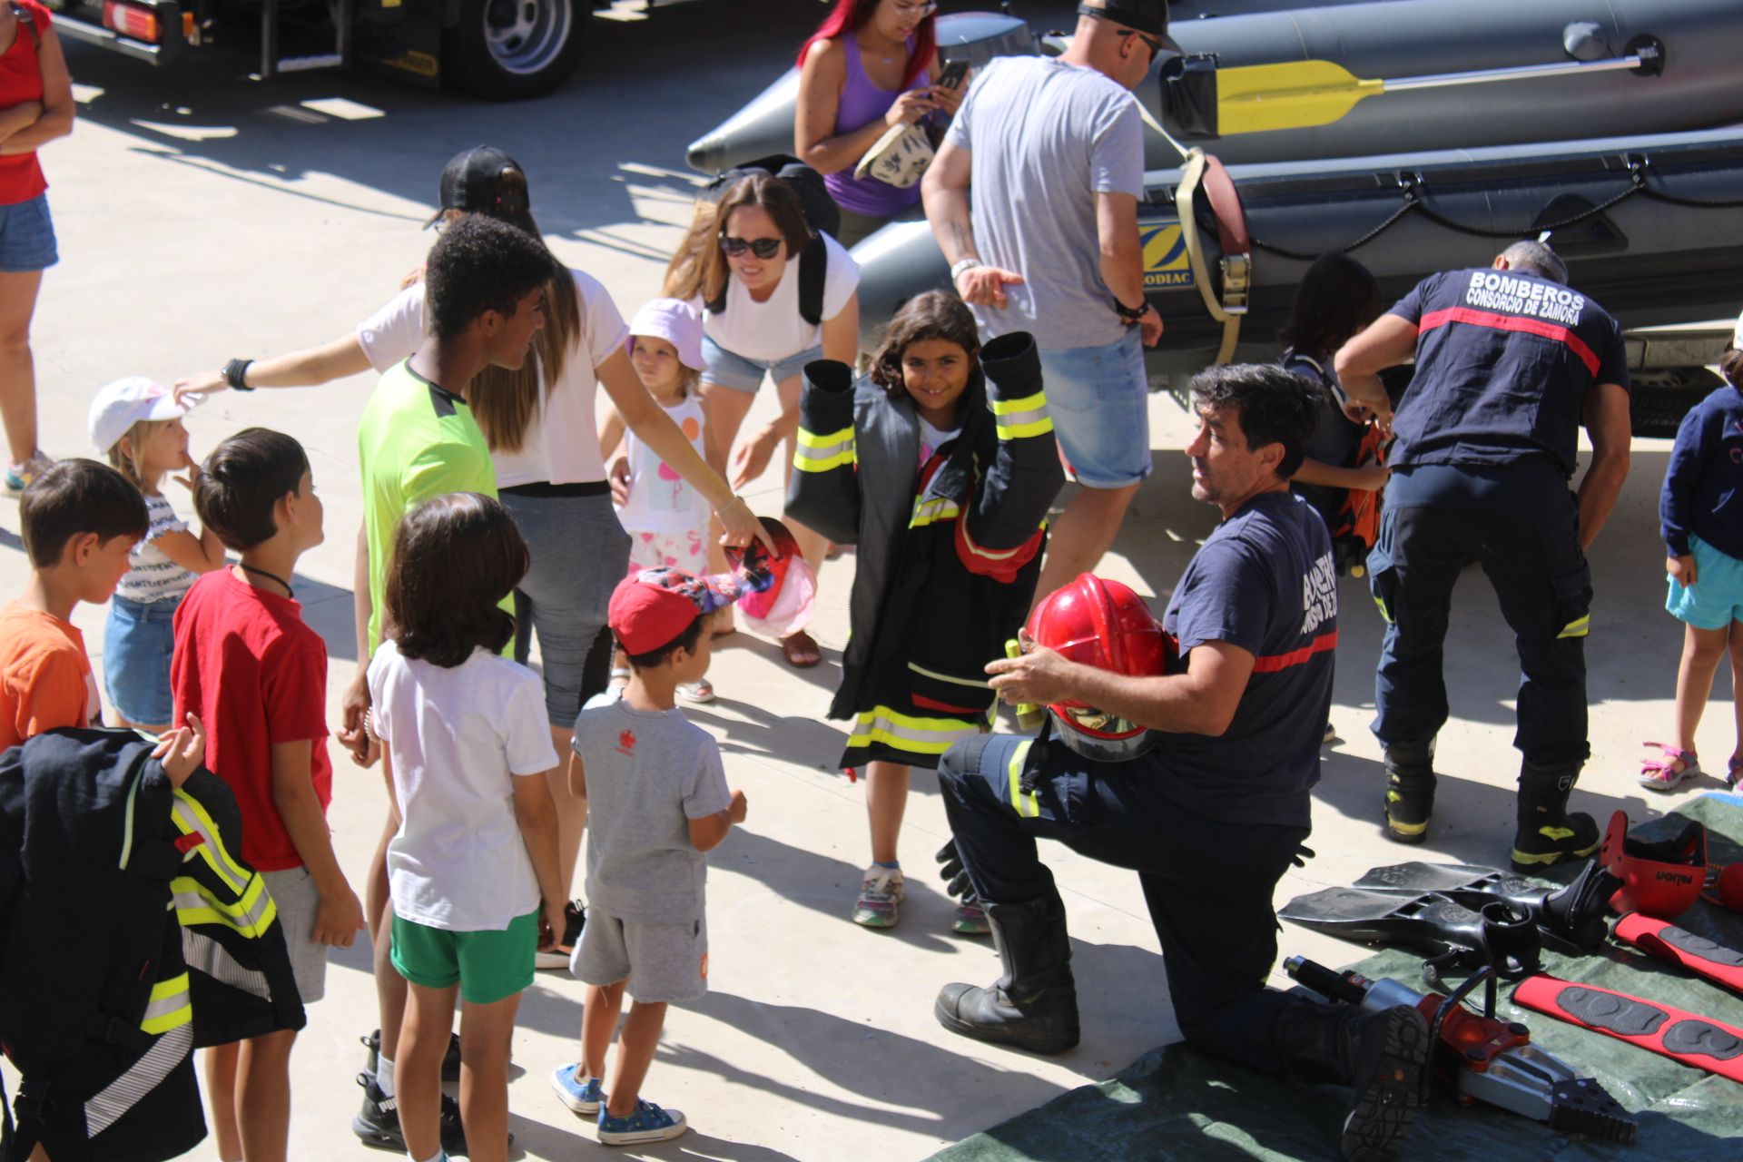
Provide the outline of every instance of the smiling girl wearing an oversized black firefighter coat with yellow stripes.
<path id="1" fill-rule="evenodd" d="M 854 721 L 842 767 L 866 768 L 872 866 L 854 922 L 887 929 L 908 770 L 992 728 L 983 667 L 1023 624 L 1065 483 L 1034 340 L 981 348 L 960 300 L 910 300 L 859 383 L 842 362 L 805 368 L 793 467 L 788 512 L 858 545 L 830 718 Z M 953 927 L 987 932 L 978 901 Z"/>

